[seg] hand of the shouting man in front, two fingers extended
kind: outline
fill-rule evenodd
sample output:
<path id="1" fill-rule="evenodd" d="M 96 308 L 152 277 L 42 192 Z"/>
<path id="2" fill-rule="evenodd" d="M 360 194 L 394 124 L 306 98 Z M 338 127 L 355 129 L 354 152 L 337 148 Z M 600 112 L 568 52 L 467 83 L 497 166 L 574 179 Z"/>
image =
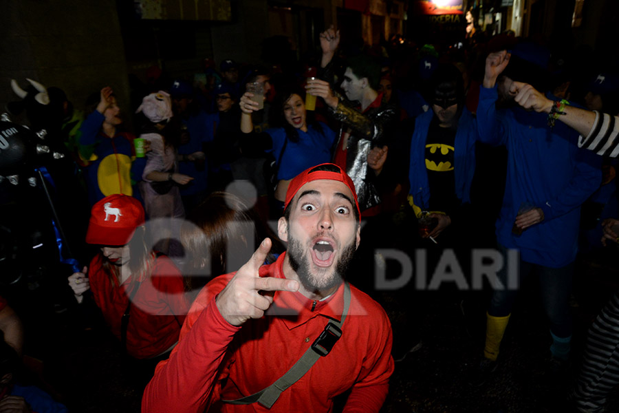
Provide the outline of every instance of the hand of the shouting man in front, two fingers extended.
<path id="1" fill-rule="evenodd" d="M 215 299 L 219 313 L 232 326 L 262 317 L 273 302 L 272 292 L 298 290 L 298 282 L 293 279 L 259 276 L 258 270 L 270 249 L 271 240 L 265 238 Z"/>

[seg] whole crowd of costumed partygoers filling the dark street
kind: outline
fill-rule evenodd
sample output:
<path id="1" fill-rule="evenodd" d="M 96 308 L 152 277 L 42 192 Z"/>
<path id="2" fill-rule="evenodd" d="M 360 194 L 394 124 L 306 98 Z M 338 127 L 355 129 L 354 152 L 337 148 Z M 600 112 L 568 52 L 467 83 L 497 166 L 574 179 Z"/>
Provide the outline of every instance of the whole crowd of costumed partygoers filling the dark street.
<path id="1" fill-rule="evenodd" d="M 331 27 L 298 73 L 228 59 L 206 83 L 162 77 L 131 111 L 139 133 L 124 127 L 111 87 L 89 97 L 79 127 L 68 114 L 96 248 L 67 274 L 74 310 L 98 308 L 144 389 L 142 411 L 329 412 L 347 393 L 345 411 L 378 412 L 395 362 L 420 346 L 393 334 L 379 304 L 391 292 L 372 268 L 401 269 L 381 248 L 425 249 L 437 279 L 453 275 L 451 254 L 463 281 L 444 284 L 462 287 L 473 248 L 495 245 L 503 265 L 482 286 L 491 297 L 476 379 L 497 370 L 530 277 L 549 329 L 546 368 L 568 371 L 576 255 L 619 242 L 619 76 L 474 33 L 465 47 L 388 57 L 340 50 Z M 424 310 L 404 301 L 414 332 Z M 2 330 L 19 353 L 14 329 Z M 618 332 L 615 295 L 566 389 L 574 412 L 602 412 L 619 384 Z"/>

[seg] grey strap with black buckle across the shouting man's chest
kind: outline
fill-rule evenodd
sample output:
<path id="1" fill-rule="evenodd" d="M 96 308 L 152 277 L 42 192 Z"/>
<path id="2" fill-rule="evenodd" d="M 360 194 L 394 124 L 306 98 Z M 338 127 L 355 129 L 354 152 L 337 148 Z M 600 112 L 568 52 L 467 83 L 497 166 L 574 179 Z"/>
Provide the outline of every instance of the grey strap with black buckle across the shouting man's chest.
<path id="1" fill-rule="evenodd" d="M 314 340 L 312 346 L 308 348 L 301 359 L 298 359 L 294 366 L 290 368 L 285 374 L 277 379 L 268 388 L 264 388 L 259 392 L 251 394 L 250 396 L 241 397 L 236 400 L 222 400 L 224 403 L 246 405 L 250 403 L 258 402 L 264 407 L 270 409 L 272 405 L 279 399 L 281 392 L 293 385 L 298 379 L 301 379 L 305 373 L 307 373 L 314 363 L 321 357 L 325 357 L 338 339 L 342 335 L 342 326 L 346 319 L 348 309 L 350 307 L 350 286 L 347 282 L 344 283 L 344 309 L 342 311 L 342 319 L 340 321 L 331 320 L 325 326 L 325 330 L 321 332 L 321 335 Z"/>

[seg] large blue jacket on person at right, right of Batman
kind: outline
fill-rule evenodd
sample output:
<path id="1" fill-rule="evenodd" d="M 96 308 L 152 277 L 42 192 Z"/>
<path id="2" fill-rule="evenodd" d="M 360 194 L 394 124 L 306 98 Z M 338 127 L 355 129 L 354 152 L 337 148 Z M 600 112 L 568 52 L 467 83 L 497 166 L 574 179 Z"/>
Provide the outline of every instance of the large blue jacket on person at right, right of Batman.
<path id="1" fill-rule="evenodd" d="M 481 87 L 477 106 L 479 139 L 508 149 L 497 240 L 519 248 L 525 262 L 561 268 L 576 258 L 580 204 L 600 187 L 600 158 L 578 149 L 578 132 L 564 123 L 551 129 L 547 114 L 521 107 L 497 111 L 497 97 L 496 86 Z M 541 208 L 544 219 L 517 237 L 512 226 L 523 202 Z"/>

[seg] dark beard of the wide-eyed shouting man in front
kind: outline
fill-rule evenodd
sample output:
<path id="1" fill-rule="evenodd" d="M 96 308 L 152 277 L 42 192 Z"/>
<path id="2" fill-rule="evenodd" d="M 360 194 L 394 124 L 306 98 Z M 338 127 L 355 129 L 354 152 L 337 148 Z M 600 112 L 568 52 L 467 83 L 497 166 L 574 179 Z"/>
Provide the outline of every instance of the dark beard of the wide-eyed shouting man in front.
<path id="1" fill-rule="evenodd" d="M 343 282 L 355 251 L 356 246 L 354 242 L 345 247 L 331 275 L 326 274 L 330 268 L 324 268 L 324 271 L 318 274 L 310 273 L 310 257 L 308 257 L 307 253 L 303 253 L 301 244 L 292 237 L 289 237 L 288 240 L 287 255 L 288 260 L 290 260 L 290 266 L 298 275 L 298 279 L 303 284 L 303 287 L 312 293 L 320 293 L 321 291 L 330 290 Z"/>

